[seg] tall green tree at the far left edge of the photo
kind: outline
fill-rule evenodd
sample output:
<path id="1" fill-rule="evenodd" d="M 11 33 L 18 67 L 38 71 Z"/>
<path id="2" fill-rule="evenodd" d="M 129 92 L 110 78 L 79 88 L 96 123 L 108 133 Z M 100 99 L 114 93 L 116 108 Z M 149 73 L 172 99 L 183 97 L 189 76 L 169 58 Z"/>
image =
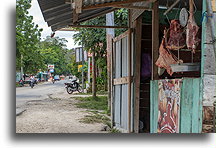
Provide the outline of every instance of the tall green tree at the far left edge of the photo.
<path id="1" fill-rule="evenodd" d="M 25 73 L 36 74 L 43 65 L 39 54 L 42 29 L 33 23 L 30 7 L 31 0 L 16 1 L 16 69 L 22 66 Z"/>

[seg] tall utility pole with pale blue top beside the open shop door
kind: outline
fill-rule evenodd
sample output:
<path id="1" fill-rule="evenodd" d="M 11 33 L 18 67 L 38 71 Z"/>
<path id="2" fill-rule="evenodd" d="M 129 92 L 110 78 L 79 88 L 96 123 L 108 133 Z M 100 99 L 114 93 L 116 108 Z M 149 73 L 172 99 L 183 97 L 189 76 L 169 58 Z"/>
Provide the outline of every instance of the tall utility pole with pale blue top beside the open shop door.
<path id="1" fill-rule="evenodd" d="M 114 26 L 114 12 L 106 14 L 106 26 Z M 112 38 L 115 36 L 113 28 L 106 29 L 107 39 L 107 82 L 108 82 L 108 109 L 111 109 L 111 52 L 112 52 Z"/>

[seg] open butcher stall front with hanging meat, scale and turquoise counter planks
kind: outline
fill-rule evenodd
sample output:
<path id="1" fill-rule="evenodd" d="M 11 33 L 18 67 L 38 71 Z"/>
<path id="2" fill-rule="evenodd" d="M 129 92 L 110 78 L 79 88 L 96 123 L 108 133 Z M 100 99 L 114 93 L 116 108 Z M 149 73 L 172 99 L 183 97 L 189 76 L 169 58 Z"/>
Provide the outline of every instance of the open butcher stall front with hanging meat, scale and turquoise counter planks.
<path id="1" fill-rule="evenodd" d="M 159 1 L 135 21 L 135 132 L 203 132 L 216 96 L 213 4 Z"/>

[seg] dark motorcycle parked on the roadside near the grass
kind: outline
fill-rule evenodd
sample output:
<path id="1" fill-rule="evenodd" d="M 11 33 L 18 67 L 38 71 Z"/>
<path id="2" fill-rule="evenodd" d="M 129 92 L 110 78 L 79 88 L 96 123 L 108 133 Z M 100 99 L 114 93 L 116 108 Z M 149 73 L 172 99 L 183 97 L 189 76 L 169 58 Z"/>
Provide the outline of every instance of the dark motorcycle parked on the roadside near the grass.
<path id="1" fill-rule="evenodd" d="M 64 84 L 68 94 L 72 94 L 74 91 L 78 91 L 79 93 L 82 92 L 82 87 L 79 85 L 77 80 L 72 80 L 72 82 Z"/>

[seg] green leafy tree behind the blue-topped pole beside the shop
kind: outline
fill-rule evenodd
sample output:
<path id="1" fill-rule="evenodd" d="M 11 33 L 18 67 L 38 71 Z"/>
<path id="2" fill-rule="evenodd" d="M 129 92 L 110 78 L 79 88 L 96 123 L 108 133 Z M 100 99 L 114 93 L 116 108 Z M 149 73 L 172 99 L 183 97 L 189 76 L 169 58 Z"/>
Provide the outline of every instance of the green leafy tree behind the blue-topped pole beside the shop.
<path id="1" fill-rule="evenodd" d="M 126 9 L 119 9 L 115 11 L 115 24 L 118 26 L 126 26 L 128 12 Z M 82 25 L 98 25 L 105 26 L 106 18 L 105 16 L 97 17 L 95 19 L 86 21 L 82 23 Z M 106 29 L 101 28 L 78 28 L 79 31 L 77 34 L 74 34 L 73 38 L 76 43 L 79 45 L 83 44 L 84 49 L 92 52 L 93 61 L 97 65 L 97 69 L 99 69 L 100 74 L 97 78 L 98 84 L 107 84 L 107 69 L 106 69 Z M 121 33 L 126 31 L 126 29 L 115 29 L 115 34 L 118 36 Z M 94 72 L 94 64 L 93 64 L 93 72 Z M 96 73 L 95 73 L 96 74 Z M 95 76 L 93 75 L 93 82 Z M 94 84 L 92 85 L 94 87 Z M 93 96 L 95 92 L 93 91 Z"/>

